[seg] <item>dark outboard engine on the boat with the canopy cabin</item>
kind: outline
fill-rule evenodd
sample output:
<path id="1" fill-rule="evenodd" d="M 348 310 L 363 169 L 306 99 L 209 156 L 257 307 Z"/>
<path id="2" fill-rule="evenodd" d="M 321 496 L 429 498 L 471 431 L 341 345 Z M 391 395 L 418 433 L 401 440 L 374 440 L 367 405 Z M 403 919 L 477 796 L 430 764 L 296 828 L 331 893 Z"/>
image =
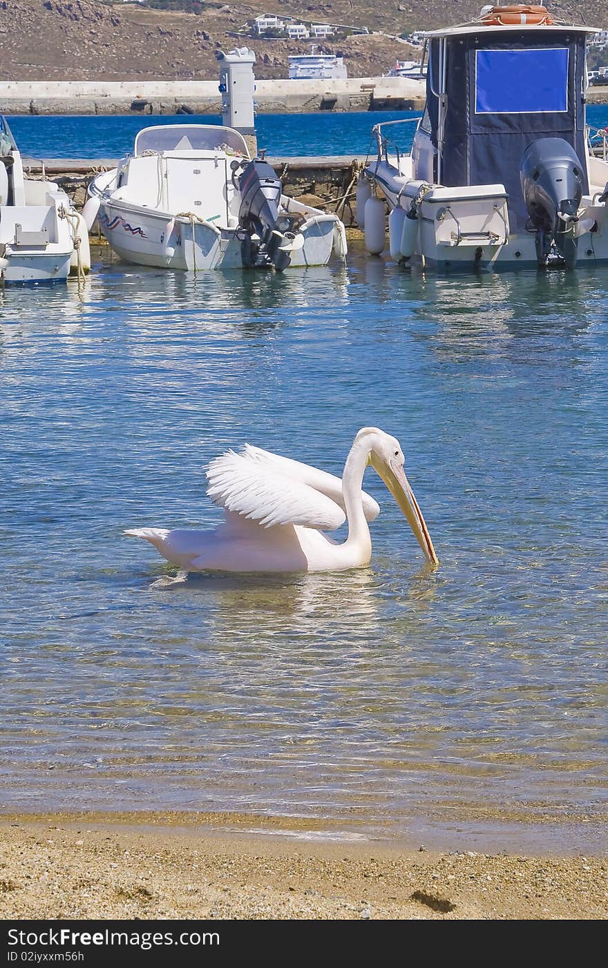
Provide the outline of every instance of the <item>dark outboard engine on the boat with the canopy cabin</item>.
<path id="1" fill-rule="evenodd" d="M 519 172 L 539 265 L 576 265 L 582 168 L 562 137 L 541 137 L 524 152 Z"/>

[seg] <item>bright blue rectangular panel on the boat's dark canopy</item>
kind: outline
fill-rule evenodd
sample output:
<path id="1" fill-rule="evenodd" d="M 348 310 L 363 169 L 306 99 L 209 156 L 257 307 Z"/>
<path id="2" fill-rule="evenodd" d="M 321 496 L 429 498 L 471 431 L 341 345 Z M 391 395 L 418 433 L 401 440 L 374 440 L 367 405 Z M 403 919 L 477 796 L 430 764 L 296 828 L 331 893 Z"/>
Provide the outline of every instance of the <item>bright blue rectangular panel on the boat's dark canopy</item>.
<path id="1" fill-rule="evenodd" d="M 475 114 L 567 109 L 567 47 L 476 51 Z"/>

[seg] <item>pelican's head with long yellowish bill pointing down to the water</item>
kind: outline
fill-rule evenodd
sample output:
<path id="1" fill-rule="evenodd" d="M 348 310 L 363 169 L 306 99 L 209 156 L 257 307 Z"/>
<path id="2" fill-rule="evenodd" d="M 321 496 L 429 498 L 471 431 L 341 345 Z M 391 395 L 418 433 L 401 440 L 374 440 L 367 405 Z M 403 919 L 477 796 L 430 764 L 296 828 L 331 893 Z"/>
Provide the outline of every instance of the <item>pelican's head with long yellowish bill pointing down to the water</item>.
<path id="1" fill-rule="evenodd" d="M 433 564 L 438 564 L 439 559 L 433 547 L 429 529 L 410 488 L 410 481 L 406 477 L 405 457 L 399 440 L 391 437 L 390 434 L 385 434 L 377 427 L 364 427 L 357 434 L 356 442 L 363 443 L 366 448 L 369 447 L 368 463 L 380 474 L 384 484 L 399 504 L 427 559 Z"/>

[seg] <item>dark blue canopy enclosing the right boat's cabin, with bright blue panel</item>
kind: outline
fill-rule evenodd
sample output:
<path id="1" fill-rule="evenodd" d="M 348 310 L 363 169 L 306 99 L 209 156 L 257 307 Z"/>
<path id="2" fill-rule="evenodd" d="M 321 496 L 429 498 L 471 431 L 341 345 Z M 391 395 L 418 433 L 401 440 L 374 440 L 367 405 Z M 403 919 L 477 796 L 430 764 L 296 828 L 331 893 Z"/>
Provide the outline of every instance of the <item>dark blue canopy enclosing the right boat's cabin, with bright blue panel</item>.
<path id="1" fill-rule="evenodd" d="M 562 137 L 574 148 L 588 191 L 585 165 L 584 31 L 480 27 L 444 35 L 445 121 L 441 184 L 500 182 L 508 193 L 511 227 L 528 213 L 519 167 L 536 138 Z M 430 43 L 427 106 L 439 144 L 440 38 Z"/>

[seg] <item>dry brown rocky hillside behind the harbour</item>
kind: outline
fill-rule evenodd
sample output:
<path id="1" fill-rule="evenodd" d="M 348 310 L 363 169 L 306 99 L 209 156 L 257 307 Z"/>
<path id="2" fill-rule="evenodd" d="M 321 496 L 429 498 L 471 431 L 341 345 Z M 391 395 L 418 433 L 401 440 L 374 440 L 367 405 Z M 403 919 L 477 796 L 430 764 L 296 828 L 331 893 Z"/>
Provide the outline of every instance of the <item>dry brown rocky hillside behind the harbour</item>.
<path id="1" fill-rule="evenodd" d="M 231 6 L 205 4 L 202 13 L 194 15 L 122 2 L 0 0 L 0 79 L 214 78 L 215 51 L 245 44 L 256 51 L 258 77 L 285 77 L 288 55 L 308 53 L 310 43 L 239 37 L 239 28 L 261 13 L 381 31 L 319 45 L 319 51 L 345 57 L 349 76 L 377 76 L 396 59 L 413 55 L 408 45 L 383 34 L 398 36 L 461 22 L 479 8 L 479 0 L 377 0 L 370 13 L 360 0 L 253 0 Z M 578 22 L 608 24 L 608 0 L 556 0 L 551 10 Z"/>

